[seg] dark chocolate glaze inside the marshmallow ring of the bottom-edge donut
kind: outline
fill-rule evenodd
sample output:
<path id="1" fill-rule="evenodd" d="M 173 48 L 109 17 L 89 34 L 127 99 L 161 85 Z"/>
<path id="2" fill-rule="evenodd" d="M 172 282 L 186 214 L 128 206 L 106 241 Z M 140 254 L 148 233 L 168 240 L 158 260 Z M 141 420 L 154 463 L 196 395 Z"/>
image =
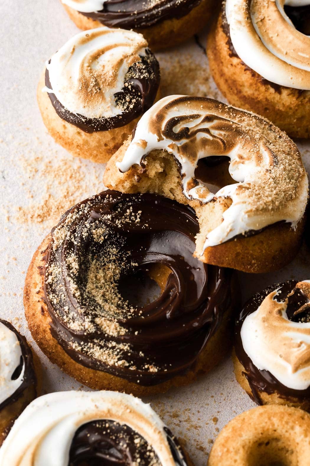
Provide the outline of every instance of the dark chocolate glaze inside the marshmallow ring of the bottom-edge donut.
<path id="1" fill-rule="evenodd" d="M 165 430 L 176 465 L 186 466 L 180 446 L 171 432 Z M 82 425 L 75 432 L 69 466 L 130 466 L 138 463 L 141 466 L 161 465 L 152 445 L 128 425 L 100 419 Z"/>

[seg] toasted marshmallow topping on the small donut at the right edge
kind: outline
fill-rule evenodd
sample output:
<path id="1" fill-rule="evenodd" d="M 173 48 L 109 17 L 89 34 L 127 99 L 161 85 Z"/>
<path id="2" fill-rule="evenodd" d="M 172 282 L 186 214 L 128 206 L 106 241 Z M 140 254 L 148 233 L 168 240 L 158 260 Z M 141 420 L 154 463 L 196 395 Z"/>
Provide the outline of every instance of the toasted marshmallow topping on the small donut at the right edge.
<path id="1" fill-rule="evenodd" d="M 310 296 L 310 281 L 296 285 Z M 244 351 L 259 370 L 268 370 L 288 388 L 310 386 L 310 322 L 292 322 L 286 314 L 287 299 L 277 301 L 277 290 L 267 295 L 257 311 L 242 324 Z"/>

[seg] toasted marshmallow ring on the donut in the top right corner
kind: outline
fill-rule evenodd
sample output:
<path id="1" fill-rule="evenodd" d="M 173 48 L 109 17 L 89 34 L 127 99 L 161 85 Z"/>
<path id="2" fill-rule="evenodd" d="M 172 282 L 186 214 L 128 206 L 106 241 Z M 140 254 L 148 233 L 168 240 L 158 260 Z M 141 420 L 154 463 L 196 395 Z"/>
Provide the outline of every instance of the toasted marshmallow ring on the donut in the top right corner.
<path id="1" fill-rule="evenodd" d="M 310 36 L 297 31 L 284 5 L 310 0 L 226 0 L 231 42 L 241 60 L 268 81 L 310 90 Z"/>

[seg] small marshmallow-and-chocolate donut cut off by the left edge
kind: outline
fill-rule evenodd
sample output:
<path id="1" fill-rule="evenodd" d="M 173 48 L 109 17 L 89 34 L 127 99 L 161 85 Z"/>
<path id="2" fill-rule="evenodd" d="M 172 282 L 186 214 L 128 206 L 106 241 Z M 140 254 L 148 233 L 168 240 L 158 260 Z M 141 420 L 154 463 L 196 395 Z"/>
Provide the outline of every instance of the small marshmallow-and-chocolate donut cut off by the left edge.
<path id="1" fill-rule="evenodd" d="M 0 319 L 0 445 L 41 387 L 38 356 L 10 322 Z M 9 463 L 0 463 L 9 464 Z"/>

